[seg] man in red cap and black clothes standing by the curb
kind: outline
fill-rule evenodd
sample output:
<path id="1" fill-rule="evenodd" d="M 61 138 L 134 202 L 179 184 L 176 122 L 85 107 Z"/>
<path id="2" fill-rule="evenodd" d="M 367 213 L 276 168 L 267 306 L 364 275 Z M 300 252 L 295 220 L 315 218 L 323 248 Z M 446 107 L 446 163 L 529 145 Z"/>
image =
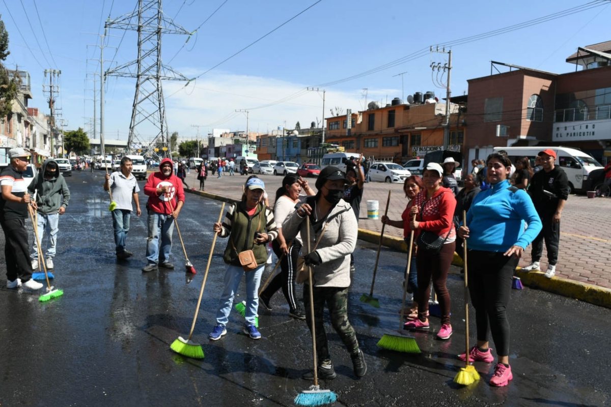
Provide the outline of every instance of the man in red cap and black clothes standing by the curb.
<path id="1" fill-rule="evenodd" d="M 569 196 L 570 187 L 565 171 L 554 165 L 556 152 L 547 148 L 540 151 L 543 170 L 530 181 L 529 194 L 535 209 L 543 223 L 539 236 L 533 240 L 532 263 L 524 267 L 525 271 L 540 270 L 539 261 L 543 254 L 543 240 L 547 248 L 547 271 L 545 276 L 552 278 L 556 274 L 558 245 L 560 244 L 560 217 Z"/>

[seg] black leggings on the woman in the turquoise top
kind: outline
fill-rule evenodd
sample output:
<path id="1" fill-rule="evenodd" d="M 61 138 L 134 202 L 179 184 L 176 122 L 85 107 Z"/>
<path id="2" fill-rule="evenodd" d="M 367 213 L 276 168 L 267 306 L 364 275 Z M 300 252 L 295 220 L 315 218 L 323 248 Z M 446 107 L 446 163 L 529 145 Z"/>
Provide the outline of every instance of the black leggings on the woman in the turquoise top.
<path id="1" fill-rule="evenodd" d="M 477 340 L 488 340 L 488 326 L 499 356 L 509 355 L 507 304 L 511 279 L 518 265 L 516 256 L 494 251 L 469 250 L 469 294 L 475 308 Z"/>

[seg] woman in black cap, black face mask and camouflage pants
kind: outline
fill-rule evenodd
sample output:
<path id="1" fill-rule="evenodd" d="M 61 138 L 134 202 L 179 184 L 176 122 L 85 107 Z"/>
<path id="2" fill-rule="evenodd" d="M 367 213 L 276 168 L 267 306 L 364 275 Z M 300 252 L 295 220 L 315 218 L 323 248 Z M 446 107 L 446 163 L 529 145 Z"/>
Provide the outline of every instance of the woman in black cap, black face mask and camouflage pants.
<path id="1" fill-rule="evenodd" d="M 305 309 L 314 307 L 314 320 L 306 312 L 310 331 L 316 331 L 316 353 L 318 354 L 318 377 L 335 378 L 331 362 L 327 335 L 324 331 L 323 312 L 327 304 L 331 325 L 348 348 L 353 362 L 354 374 L 362 377 L 367 372 L 363 352 L 359 348 L 356 332 L 348 321 L 348 287 L 350 286 L 350 256 L 356 247 L 357 223 L 352 207 L 342 199 L 346 175 L 337 167 L 326 167 L 316 180 L 318 193 L 306 198 L 305 203 L 288 217 L 282 232 L 285 239 L 294 239 L 298 232 L 302 239 L 308 236 L 305 217 L 310 218 L 310 253 L 305 254 L 305 264 L 313 267 L 313 298 L 304 286 Z M 316 240 L 320 242 L 316 245 Z M 315 247 L 316 245 L 316 247 Z M 307 244 L 305 245 L 307 247 Z M 313 380 L 313 372 L 303 376 Z"/>

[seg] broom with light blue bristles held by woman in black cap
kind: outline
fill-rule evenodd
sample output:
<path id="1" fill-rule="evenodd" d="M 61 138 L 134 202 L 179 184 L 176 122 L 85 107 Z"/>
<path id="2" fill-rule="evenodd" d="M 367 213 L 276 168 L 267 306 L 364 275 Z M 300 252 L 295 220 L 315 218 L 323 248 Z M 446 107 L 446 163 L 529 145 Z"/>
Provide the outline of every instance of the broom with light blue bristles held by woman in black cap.
<path id="1" fill-rule="evenodd" d="M 307 252 L 310 253 L 310 217 L 305 217 L 305 236 L 307 239 Z M 304 390 L 295 396 L 295 402 L 298 406 L 322 406 L 335 403 L 337 394 L 331 390 L 324 390 L 318 386 L 318 360 L 316 357 L 316 328 L 314 323 L 314 294 L 312 290 L 312 267 L 308 268 L 308 287 L 310 290 L 310 317 L 312 318 L 312 359 L 314 363 L 314 384 L 308 390 Z"/>

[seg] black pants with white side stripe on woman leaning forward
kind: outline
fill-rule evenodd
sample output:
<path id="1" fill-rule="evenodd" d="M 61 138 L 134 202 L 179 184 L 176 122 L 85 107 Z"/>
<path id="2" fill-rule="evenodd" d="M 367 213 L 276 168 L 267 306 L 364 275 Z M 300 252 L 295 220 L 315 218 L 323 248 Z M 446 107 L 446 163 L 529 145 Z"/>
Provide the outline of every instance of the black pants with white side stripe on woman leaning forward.
<path id="1" fill-rule="evenodd" d="M 284 294 L 284 298 L 287 299 L 290 311 L 295 311 L 297 309 L 297 300 L 295 298 L 295 276 L 297 273 L 297 259 L 299 258 L 299 252 L 301 251 L 301 244 L 296 240 L 293 241 L 293 244 L 288 250 L 288 254 L 286 256 L 282 256 L 280 245 L 277 242 L 277 240 L 274 240 L 271 247 L 274 249 L 276 256 L 278 256 L 278 258 L 282 258 L 282 260 L 280 260 L 281 271 L 272 279 L 272 281 L 269 282 L 269 286 L 263 290 L 261 297 L 265 297 L 269 300 L 269 298 L 271 298 L 272 295 L 274 295 L 276 291 L 282 287 L 282 294 Z"/>

